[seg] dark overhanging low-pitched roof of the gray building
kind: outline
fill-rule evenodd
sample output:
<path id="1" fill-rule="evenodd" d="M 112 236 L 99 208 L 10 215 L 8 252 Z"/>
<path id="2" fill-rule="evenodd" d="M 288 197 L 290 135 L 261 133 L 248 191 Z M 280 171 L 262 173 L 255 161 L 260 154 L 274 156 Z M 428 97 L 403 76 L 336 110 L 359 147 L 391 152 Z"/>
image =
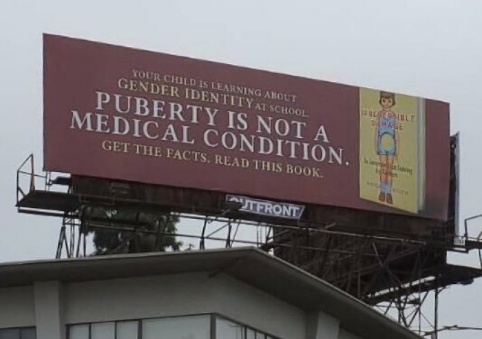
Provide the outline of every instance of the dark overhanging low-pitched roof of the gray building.
<path id="1" fill-rule="evenodd" d="M 323 311 L 339 319 L 340 327 L 364 338 L 420 338 L 337 287 L 254 247 L 4 263 L 0 287 L 196 271 L 227 274 L 306 311 Z"/>

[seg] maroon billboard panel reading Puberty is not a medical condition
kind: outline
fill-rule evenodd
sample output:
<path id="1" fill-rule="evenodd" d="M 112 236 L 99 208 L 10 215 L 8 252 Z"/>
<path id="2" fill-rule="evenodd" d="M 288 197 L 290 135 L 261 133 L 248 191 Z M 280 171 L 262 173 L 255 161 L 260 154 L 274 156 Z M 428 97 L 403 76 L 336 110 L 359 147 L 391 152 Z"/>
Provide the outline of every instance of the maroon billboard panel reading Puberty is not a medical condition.
<path id="1" fill-rule="evenodd" d="M 44 35 L 44 169 L 446 220 L 448 103 Z"/>

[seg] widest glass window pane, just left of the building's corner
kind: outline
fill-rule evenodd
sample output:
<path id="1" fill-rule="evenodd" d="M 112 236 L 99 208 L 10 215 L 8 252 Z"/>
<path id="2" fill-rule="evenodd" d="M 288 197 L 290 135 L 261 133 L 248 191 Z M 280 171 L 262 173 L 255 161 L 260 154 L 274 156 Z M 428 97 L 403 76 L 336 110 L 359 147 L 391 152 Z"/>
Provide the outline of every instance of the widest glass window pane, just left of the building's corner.
<path id="1" fill-rule="evenodd" d="M 210 339 L 210 316 L 143 320 L 142 339 Z M 221 337 L 224 339 L 224 337 Z M 228 338 L 226 338 L 228 339 Z"/>

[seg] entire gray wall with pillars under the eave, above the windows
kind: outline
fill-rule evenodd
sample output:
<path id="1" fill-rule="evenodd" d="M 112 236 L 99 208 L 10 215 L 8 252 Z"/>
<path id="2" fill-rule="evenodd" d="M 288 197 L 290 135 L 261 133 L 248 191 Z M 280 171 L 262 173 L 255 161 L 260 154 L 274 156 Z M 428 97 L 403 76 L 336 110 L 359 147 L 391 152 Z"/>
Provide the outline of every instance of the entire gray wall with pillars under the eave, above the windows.
<path id="1" fill-rule="evenodd" d="M 321 311 L 306 313 L 224 274 L 51 281 L 0 289 L 0 329 L 36 326 L 38 339 L 65 338 L 67 324 L 209 313 L 280 338 L 362 339 Z"/>

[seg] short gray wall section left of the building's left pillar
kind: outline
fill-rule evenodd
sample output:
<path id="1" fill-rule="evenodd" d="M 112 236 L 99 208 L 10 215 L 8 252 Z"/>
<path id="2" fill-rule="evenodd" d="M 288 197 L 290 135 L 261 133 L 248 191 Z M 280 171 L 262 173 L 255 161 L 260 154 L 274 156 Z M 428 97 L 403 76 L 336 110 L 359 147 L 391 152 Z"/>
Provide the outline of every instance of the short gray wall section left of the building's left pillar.
<path id="1" fill-rule="evenodd" d="M 35 326 L 34 288 L 0 289 L 0 329 Z"/>

